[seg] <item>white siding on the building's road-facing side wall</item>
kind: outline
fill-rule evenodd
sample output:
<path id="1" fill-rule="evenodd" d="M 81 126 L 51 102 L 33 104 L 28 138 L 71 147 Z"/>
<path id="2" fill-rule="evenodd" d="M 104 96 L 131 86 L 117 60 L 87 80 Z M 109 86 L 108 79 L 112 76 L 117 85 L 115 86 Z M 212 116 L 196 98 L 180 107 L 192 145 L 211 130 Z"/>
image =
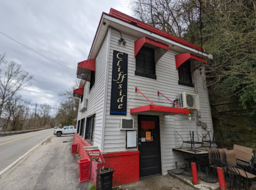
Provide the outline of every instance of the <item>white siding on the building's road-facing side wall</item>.
<path id="1" fill-rule="evenodd" d="M 78 116 L 77 116 L 77 120 L 81 120 L 85 118 L 85 125 L 86 125 L 86 118 L 95 114 L 93 145 L 97 145 L 99 148 L 101 147 L 103 106 L 104 106 L 105 85 L 106 85 L 105 79 L 106 79 L 106 68 L 107 68 L 107 52 L 108 52 L 108 35 L 106 34 L 105 39 L 99 50 L 99 53 L 96 57 L 94 86 L 92 87 L 91 90 L 89 90 L 90 82 L 86 81 L 84 85 L 84 98 L 88 99 L 87 110 L 84 111 L 83 113 L 78 112 Z"/>

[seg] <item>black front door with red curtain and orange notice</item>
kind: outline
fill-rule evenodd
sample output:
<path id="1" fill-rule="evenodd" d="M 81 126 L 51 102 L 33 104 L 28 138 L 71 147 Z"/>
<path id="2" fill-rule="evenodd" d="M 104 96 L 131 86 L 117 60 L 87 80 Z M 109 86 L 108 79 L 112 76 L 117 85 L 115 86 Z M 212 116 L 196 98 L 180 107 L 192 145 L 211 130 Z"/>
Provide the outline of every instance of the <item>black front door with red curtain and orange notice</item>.
<path id="1" fill-rule="evenodd" d="M 138 115 L 140 177 L 162 174 L 159 117 Z"/>

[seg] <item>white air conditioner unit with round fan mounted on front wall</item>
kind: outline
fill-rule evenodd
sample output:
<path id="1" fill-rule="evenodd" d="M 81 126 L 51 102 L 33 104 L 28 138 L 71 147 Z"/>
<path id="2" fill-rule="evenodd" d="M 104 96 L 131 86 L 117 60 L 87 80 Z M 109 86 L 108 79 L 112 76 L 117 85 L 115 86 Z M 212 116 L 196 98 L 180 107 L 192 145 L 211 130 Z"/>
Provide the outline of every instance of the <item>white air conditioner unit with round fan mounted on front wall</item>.
<path id="1" fill-rule="evenodd" d="M 199 96 L 194 93 L 181 92 L 178 94 L 178 102 L 181 108 L 189 110 L 199 110 Z"/>

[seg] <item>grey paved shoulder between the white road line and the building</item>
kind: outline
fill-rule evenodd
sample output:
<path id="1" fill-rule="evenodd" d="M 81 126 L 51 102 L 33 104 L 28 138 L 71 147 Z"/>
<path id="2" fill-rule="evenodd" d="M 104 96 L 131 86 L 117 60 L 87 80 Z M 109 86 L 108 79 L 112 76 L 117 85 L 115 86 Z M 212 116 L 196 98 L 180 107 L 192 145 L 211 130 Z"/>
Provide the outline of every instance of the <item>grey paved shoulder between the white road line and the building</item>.
<path id="1" fill-rule="evenodd" d="M 74 135 L 52 135 L 15 168 L 2 175 L 1 190 L 89 189 L 90 181 L 81 184 L 78 182 L 79 158 L 77 154 L 71 154 L 73 140 Z"/>

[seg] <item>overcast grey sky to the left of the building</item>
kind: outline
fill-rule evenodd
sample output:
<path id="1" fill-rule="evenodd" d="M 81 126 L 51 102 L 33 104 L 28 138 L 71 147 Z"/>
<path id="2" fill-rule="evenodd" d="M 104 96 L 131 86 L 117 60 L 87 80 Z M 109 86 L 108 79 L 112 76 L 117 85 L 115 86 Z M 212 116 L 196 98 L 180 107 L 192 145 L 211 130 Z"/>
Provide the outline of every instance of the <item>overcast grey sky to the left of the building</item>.
<path id="1" fill-rule="evenodd" d="M 131 15 L 125 0 L 0 0 L 0 32 L 74 70 L 87 59 L 102 12 L 110 7 Z M 59 102 L 58 92 L 68 89 L 76 71 L 54 63 L 0 33 L 0 53 L 22 65 L 34 79 L 20 92 L 31 103 Z M 55 88 L 50 87 L 49 84 Z M 58 90 L 59 89 L 59 90 Z"/>

